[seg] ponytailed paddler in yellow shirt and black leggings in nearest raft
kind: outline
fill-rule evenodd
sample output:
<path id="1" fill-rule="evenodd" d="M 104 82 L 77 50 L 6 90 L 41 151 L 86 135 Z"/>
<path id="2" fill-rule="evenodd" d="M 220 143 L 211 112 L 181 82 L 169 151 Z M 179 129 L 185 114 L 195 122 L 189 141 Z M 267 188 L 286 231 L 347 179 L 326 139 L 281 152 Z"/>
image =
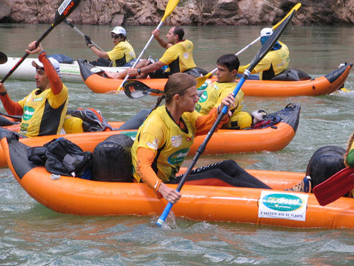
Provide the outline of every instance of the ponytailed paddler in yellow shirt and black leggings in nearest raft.
<path id="1" fill-rule="evenodd" d="M 162 99 L 166 104 L 159 106 Z M 198 100 L 195 78 L 183 73 L 172 74 L 165 85 L 164 95 L 159 97 L 152 113 L 139 128 L 132 145 L 135 181 L 147 183 L 159 197 L 163 196 L 172 204 L 181 198 L 181 194 L 166 184 L 177 184 L 181 180 L 182 176 L 176 174 L 195 136 L 205 135 L 216 121 L 219 111 L 224 106 L 232 109 L 235 101 L 230 93 L 217 109 L 202 116 L 194 109 Z M 230 111 L 228 115 L 231 115 Z M 225 116 L 222 123 L 226 123 L 229 116 Z M 187 184 L 215 184 L 215 179 L 234 187 L 270 189 L 234 160 L 196 168 L 190 173 Z"/>

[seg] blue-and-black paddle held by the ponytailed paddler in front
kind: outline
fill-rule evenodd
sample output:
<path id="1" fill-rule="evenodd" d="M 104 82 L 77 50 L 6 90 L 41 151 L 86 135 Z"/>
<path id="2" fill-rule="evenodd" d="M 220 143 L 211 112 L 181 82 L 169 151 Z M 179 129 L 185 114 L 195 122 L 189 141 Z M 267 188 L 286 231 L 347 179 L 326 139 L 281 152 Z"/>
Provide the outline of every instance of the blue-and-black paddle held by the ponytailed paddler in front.
<path id="1" fill-rule="evenodd" d="M 283 31 L 285 31 L 285 28 L 289 25 L 290 21 L 292 20 L 292 17 L 295 14 L 295 10 L 292 11 L 292 13 L 290 14 L 290 16 L 287 16 L 287 18 L 282 21 L 282 23 L 280 24 L 280 26 L 273 32 L 272 35 L 270 35 L 270 37 L 268 38 L 268 40 L 264 43 L 264 45 L 261 47 L 261 50 L 259 50 L 257 52 L 257 54 L 255 55 L 255 57 L 253 57 L 253 60 L 251 62 L 251 64 L 249 65 L 249 67 L 244 71 L 244 75 L 241 77 L 239 83 L 237 83 L 236 88 L 234 89 L 234 96 L 236 96 L 236 94 L 239 93 L 239 90 L 241 89 L 242 85 L 244 84 L 244 82 L 246 81 L 246 79 L 249 77 L 249 74 L 251 74 L 251 71 L 253 70 L 254 67 L 256 67 L 256 65 L 258 65 L 258 62 L 260 62 L 263 57 L 265 57 L 265 55 L 268 53 L 268 51 L 273 48 L 273 46 L 275 45 L 275 43 L 277 42 L 278 38 L 280 37 L 280 35 L 282 34 Z M 207 143 L 209 142 L 210 138 L 212 138 L 212 134 L 216 131 L 217 126 L 219 125 L 220 121 L 222 121 L 222 118 L 224 118 L 224 115 L 227 114 L 228 108 L 227 106 L 224 106 L 222 108 L 222 111 L 219 113 L 219 116 L 217 117 L 217 120 L 215 121 L 215 123 L 212 125 L 212 128 L 210 128 L 210 131 L 207 133 L 207 136 L 205 137 L 205 140 L 202 142 L 202 144 L 199 146 L 197 153 L 195 154 L 195 156 L 193 157 L 192 162 L 190 163 L 190 165 L 188 166 L 187 171 L 183 174 L 183 177 L 181 179 L 181 181 L 178 184 L 177 187 L 177 191 L 180 192 L 183 184 L 185 183 L 186 179 L 188 178 L 190 172 L 192 172 L 193 167 L 195 166 L 195 164 L 197 163 L 198 158 L 200 157 L 200 155 L 204 152 L 205 147 L 207 145 Z M 162 224 L 165 223 L 167 216 L 169 215 L 169 212 L 172 208 L 173 204 L 171 204 L 171 202 L 169 202 L 165 209 L 164 212 L 161 214 L 160 218 L 158 221 L 156 221 L 156 225 L 157 226 L 162 226 Z"/>

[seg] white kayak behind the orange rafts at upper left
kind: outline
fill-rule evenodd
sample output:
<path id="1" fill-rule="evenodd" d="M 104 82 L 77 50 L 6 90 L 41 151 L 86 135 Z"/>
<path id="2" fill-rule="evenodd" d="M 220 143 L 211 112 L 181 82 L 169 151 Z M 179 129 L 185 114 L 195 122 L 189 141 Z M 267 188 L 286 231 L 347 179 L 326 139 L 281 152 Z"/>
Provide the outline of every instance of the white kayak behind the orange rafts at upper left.
<path id="1" fill-rule="evenodd" d="M 50 55 L 49 55 L 50 56 Z M 55 57 L 56 58 L 56 57 Z M 21 60 L 21 57 L 8 57 L 5 64 L 0 65 L 0 79 L 6 76 L 6 74 L 13 68 L 16 63 Z M 37 57 L 26 58 L 22 64 L 17 67 L 17 69 L 11 74 L 8 79 L 19 79 L 19 80 L 30 80 L 33 81 L 35 78 L 35 67 L 33 67 L 32 61 L 38 62 Z M 60 72 L 62 72 L 62 82 L 84 82 L 81 78 L 80 67 L 76 60 L 72 63 L 59 62 Z M 103 70 L 108 70 L 110 72 L 120 72 L 126 70 L 127 67 L 93 67 L 92 72 L 101 72 Z"/>

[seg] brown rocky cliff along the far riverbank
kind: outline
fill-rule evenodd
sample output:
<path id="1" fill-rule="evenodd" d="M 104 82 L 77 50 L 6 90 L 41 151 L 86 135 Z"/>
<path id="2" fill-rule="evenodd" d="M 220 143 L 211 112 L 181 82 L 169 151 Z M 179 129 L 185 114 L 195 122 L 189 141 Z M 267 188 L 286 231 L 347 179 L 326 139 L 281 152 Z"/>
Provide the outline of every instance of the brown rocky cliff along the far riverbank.
<path id="1" fill-rule="evenodd" d="M 168 0 L 81 0 L 76 24 L 157 25 Z M 180 0 L 166 25 L 270 25 L 298 2 L 295 25 L 353 25 L 354 0 Z M 52 23 L 62 0 L 0 0 L 0 23 Z"/>

